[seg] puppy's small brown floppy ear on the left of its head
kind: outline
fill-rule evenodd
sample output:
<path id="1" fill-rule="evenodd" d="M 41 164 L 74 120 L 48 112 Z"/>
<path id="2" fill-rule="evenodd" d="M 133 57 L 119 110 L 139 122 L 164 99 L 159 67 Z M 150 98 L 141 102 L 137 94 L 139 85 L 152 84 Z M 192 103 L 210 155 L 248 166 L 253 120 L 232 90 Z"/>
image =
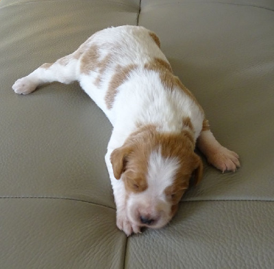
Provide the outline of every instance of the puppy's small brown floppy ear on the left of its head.
<path id="1" fill-rule="evenodd" d="M 132 149 L 129 146 L 121 146 L 120 148 L 112 151 L 110 155 L 110 162 L 112 163 L 112 169 L 116 179 L 120 179 L 123 172 L 125 172 L 127 156 L 131 153 L 131 151 Z"/>

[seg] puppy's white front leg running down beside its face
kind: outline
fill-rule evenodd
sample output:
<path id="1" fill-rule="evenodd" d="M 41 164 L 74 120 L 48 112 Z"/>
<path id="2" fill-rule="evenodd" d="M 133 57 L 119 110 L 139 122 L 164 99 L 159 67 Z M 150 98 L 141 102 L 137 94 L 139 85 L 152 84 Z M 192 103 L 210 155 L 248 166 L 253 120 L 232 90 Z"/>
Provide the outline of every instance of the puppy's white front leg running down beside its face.
<path id="1" fill-rule="evenodd" d="M 111 153 L 112 151 L 108 150 L 108 153 L 105 155 L 105 164 L 107 165 L 108 173 L 110 174 L 110 181 L 112 183 L 112 190 L 116 204 L 116 225 L 121 231 L 124 231 L 127 236 L 132 233 L 140 233 L 140 227 L 130 222 L 127 217 L 127 194 L 125 192 L 125 185 L 122 179 L 117 180 L 114 177 L 112 164 L 110 162 Z"/>

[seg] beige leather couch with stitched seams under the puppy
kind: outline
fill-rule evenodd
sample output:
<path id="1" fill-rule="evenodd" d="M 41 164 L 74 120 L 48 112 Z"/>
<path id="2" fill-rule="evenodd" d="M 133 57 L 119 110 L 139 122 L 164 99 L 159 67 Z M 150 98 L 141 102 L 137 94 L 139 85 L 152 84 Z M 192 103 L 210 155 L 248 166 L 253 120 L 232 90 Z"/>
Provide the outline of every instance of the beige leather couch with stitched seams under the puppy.
<path id="1" fill-rule="evenodd" d="M 1 0 L 0 268 L 274 268 L 273 0 Z M 99 29 L 155 31 L 242 167 L 203 181 L 160 230 L 115 225 L 111 125 L 77 84 L 12 84 Z"/>

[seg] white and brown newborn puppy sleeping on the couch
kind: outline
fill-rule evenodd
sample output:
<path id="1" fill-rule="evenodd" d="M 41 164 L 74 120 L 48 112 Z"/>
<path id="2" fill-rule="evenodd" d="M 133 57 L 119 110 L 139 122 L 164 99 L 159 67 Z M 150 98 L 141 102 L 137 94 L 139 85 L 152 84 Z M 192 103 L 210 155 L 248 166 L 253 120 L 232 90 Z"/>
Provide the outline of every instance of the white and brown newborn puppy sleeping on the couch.
<path id="1" fill-rule="evenodd" d="M 216 141 L 201 105 L 173 75 L 159 38 L 144 27 L 98 31 L 71 55 L 42 64 L 12 88 L 28 94 L 52 81 L 79 81 L 113 125 L 105 162 L 116 225 L 127 235 L 166 225 L 192 173 L 200 181 L 196 141 L 216 168 L 240 166 L 238 155 Z"/>

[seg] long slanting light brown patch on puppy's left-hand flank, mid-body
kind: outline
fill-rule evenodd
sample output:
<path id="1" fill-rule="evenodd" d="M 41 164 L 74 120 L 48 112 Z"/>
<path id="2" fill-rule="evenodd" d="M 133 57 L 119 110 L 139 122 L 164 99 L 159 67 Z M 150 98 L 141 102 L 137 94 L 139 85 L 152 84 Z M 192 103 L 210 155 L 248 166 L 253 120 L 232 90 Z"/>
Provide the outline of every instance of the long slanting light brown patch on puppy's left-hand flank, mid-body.
<path id="1" fill-rule="evenodd" d="M 112 108 L 117 88 L 121 86 L 125 82 L 125 80 L 129 77 L 129 74 L 134 71 L 134 69 L 137 68 L 136 64 L 129 64 L 127 66 L 117 66 L 116 72 L 112 76 L 112 79 L 110 80 L 110 84 L 108 86 L 108 91 L 105 94 L 105 103 L 110 110 Z"/>

